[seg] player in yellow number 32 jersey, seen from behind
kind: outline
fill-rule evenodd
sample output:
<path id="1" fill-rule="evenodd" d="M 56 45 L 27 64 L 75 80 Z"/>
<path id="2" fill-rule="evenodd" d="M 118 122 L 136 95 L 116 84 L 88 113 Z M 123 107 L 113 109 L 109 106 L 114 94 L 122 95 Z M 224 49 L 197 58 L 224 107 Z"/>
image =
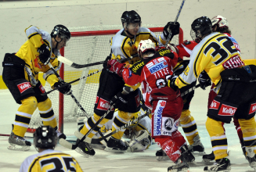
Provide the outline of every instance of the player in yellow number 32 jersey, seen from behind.
<path id="1" fill-rule="evenodd" d="M 218 94 L 207 112 L 206 128 L 211 137 L 215 154 L 215 165 L 204 167 L 204 171 L 229 171 L 227 158 L 228 142 L 223 123 L 230 123 L 232 117 L 238 119 L 243 131 L 244 145 L 250 166 L 256 167 L 256 66 L 246 66 L 233 41 L 226 34 L 212 32 L 211 20 L 202 16 L 191 24 L 193 40 L 199 44 L 193 48 L 189 65 L 178 77 L 172 77 L 168 85 L 182 88 L 197 80 L 205 70 L 215 84 Z"/>

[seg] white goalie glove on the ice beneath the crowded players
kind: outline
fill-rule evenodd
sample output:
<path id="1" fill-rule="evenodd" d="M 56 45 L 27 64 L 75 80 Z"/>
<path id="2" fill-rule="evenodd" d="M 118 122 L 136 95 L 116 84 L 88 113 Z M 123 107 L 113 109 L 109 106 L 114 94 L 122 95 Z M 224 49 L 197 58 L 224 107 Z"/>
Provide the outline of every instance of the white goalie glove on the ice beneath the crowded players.
<path id="1" fill-rule="evenodd" d="M 139 152 L 146 150 L 151 145 L 150 134 L 146 130 L 134 131 L 135 135 L 132 136 L 132 139 L 129 143 L 131 152 Z"/>

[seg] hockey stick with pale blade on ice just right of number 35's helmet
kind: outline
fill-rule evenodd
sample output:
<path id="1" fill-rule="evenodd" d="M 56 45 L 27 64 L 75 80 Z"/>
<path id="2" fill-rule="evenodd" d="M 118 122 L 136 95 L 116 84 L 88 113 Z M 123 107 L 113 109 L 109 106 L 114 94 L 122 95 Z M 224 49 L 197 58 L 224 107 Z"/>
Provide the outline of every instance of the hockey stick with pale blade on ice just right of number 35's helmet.
<path id="1" fill-rule="evenodd" d="M 70 143 L 70 142 L 67 142 L 67 141 L 66 141 L 65 139 L 63 139 L 63 138 L 60 138 L 60 139 L 59 139 L 59 144 L 60 144 L 60 145 L 63 145 L 63 146 L 64 146 L 65 148 L 67 148 L 67 149 L 72 149 L 72 150 L 74 150 L 74 149 L 78 148 L 78 145 L 79 145 L 81 142 L 83 142 L 83 141 L 85 140 L 85 138 L 88 136 L 88 134 L 90 134 L 90 133 L 98 126 L 98 124 L 106 117 L 106 115 L 107 115 L 108 113 L 110 113 L 111 109 L 113 109 L 113 108 L 114 108 L 114 104 L 113 104 L 112 106 L 110 106 L 110 109 L 108 109 L 108 110 L 106 111 L 106 113 L 104 113 L 104 115 L 99 118 L 99 120 L 96 122 L 96 124 L 94 124 L 94 126 L 91 127 L 91 129 L 90 129 L 90 130 L 79 140 L 79 142 L 77 142 L 75 145 L 73 145 L 73 144 Z"/>

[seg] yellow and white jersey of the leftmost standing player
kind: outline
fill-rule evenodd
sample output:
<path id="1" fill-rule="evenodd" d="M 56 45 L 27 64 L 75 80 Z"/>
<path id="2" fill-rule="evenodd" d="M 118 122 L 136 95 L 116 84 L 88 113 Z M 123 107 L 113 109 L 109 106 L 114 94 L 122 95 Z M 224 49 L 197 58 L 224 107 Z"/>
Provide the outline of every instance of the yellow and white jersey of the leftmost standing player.
<path id="1" fill-rule="evenodd" d="M 25 30 L 25 33 L 27 34 L 28 40 L 20 47 L 20 50 L 16 52 L 16 56 L 23 59 L 26 63 L 25 77 L 27 81 L 30 81 L 31 85 L 35 86 L 38 83 L 38 73 L 43 72 L 44 79 L 52 86 L 56 81 L 59 80 L 53 74 L 52 70 L 50 70 L 50 67 L 41 63 L 38 57 L 38 48 L 41 47 L 42 44 L 48 45 L 52 52 L 50 63 L 52 63 L 52 66 L 56 70 L 59 70 L 61 63 L 59 63 L 58 59 L 56 59 L 56 56 L 60 56 L 60 54 L 56 49 L 53 52 L 51 35 L 45 30 L 41 30 L 34 26 L 28 27 Z"/>

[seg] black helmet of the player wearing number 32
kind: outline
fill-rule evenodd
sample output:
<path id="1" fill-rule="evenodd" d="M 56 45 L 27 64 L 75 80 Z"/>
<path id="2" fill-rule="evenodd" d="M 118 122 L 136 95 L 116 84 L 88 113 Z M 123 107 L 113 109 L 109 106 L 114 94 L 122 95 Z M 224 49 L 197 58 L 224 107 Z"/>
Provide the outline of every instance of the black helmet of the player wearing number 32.
<path id="1" fill-rule="evenodd" d="M 211 20 L 207 16 L 201 16 L 191 24 L 190 36 L 194 41 L 200 42 L 204 35 L 211 34 Z"/>

